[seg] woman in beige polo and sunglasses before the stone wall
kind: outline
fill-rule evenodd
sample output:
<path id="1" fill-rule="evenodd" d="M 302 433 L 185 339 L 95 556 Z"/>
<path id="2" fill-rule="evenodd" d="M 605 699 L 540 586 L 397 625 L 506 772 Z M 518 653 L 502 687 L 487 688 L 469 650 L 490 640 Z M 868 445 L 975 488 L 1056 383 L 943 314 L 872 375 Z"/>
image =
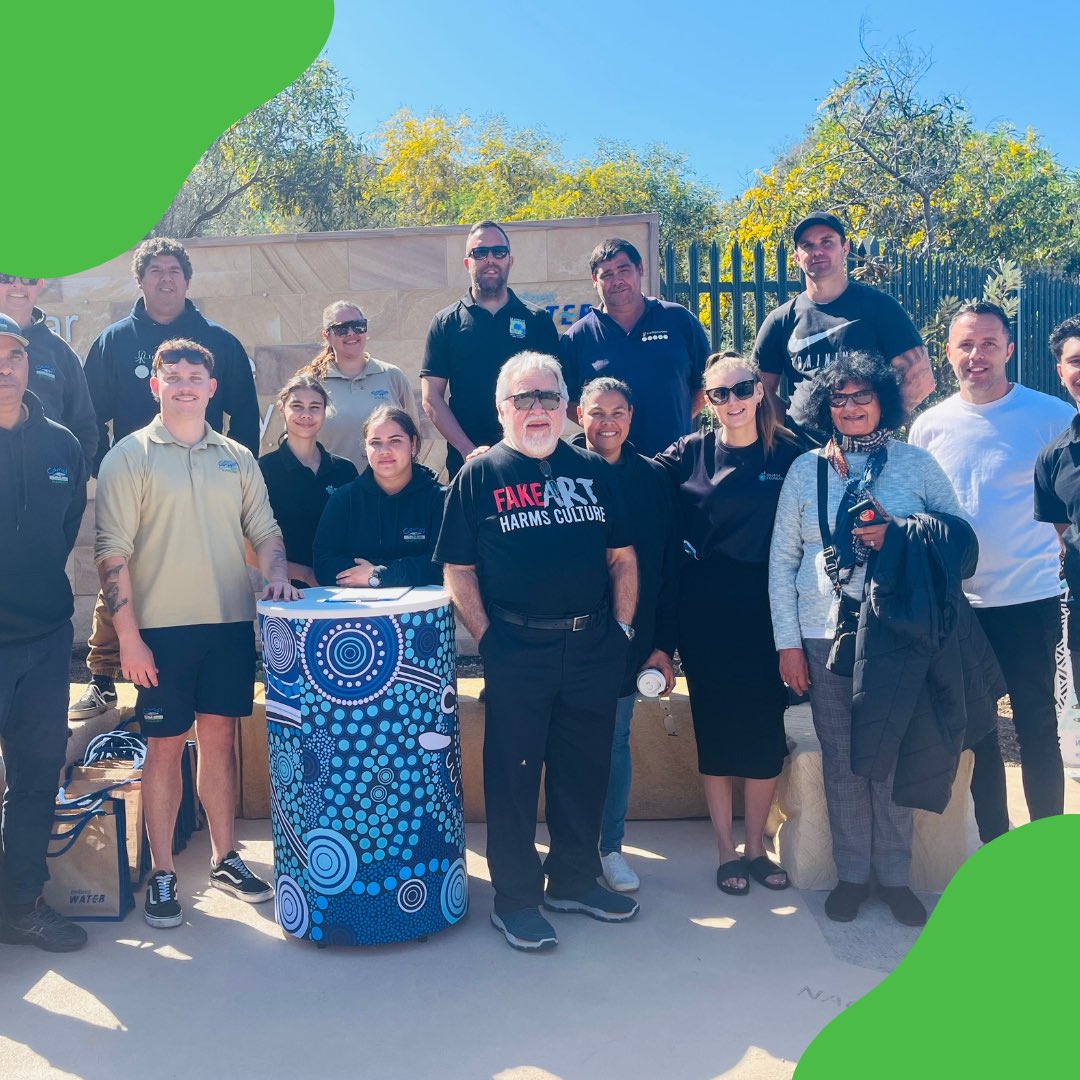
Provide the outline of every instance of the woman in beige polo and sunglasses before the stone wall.
<path id="1" fill-rule="evenodd" d="M 367 351 L 367 318 L 356 305 L 335 300 L 323 311 L 323 351 L 301 373 L 319 379 L 334 406 L 322 442 L 363 472 L 367 468 L 364 421 L 380 405 L 393 405 L 418 428 L 416 400 L 405 373 Z"/>

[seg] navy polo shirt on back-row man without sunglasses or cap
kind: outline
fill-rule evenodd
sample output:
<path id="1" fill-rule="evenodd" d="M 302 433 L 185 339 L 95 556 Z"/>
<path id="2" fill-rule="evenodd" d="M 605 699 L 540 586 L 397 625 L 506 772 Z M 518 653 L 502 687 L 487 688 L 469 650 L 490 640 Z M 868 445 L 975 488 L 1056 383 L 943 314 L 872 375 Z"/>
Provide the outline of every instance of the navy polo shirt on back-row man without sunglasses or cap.
<path id="1" fill-rule="evenodd" d="M 645 311 L 629 334 L 593 308 L 559 342 L 570 401 L 579 401 L 581 388 L 602 375 L 630 387 L 630 438 L 646 457 L 693 430 L 691 406 L 707 357 L 708 338 L 701 323 L 680 303 L 652 296 L 645 298 Z"/>

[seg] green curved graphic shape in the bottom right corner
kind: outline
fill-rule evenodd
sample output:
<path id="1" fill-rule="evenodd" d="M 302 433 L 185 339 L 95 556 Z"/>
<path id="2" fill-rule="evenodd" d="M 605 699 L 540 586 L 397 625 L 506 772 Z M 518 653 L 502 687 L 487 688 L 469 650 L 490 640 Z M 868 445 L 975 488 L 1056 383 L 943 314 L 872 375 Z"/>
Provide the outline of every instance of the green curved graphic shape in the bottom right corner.
<path id="1" fill-rule="evenodd" d="M 796 1080 L 1075 1075 L 1078 851 L 1075 815 L 980 849 L 896 970 L 810 1044 Z"/>

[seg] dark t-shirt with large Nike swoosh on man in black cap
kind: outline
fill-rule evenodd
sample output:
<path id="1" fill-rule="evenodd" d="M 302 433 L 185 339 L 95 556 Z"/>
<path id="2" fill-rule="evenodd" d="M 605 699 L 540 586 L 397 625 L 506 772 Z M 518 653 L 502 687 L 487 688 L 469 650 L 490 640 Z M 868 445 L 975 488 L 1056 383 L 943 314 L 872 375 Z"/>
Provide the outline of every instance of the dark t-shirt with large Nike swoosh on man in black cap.
<path id="1" fill-rule="evenodd" d="M 805 423 L 810 379 L 840 352 L 863 350 L 892 360 L 922 345 L 907 312 L 879 288 L 848 283 L 831 303 L 814 303 L 806 293 L 770 311 L 754 342 L 762 372 L 792 379 L 791 415 Z"/>

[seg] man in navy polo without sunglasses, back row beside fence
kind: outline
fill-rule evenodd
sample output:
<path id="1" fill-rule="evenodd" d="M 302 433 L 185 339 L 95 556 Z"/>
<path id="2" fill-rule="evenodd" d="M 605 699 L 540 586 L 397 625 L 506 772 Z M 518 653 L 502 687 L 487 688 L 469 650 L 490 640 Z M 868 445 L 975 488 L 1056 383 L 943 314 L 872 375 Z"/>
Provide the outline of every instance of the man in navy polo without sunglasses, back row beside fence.
<path id="1" fill-rule="evenodd" d="M 563 335 L 559 361 L 570 391 L 567 414 L 578 419 L 581 388 L 597 376 L 622 379 L 634 394 L 630 438 L 652 457 L 693 428 L 708 338 L 679 303 L 642 293 L 642 256 L 629 240 L 593 248 L 589 270 L 600 298 Z"/>

